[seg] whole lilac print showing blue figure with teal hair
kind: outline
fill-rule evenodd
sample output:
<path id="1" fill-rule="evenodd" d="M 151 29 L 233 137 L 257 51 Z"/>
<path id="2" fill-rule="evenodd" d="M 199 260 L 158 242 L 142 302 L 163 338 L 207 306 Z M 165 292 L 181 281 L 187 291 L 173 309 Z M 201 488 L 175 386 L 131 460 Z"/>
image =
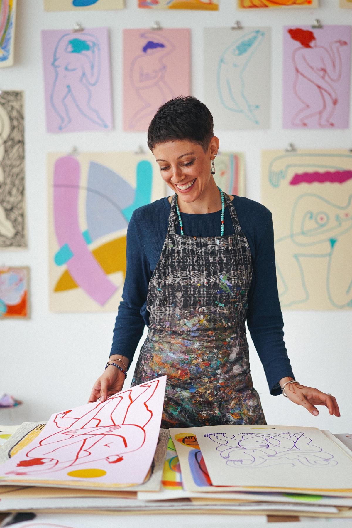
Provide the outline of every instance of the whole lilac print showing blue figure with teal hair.
<path id="1" fill-rule="evenodd" d="M 109 33 L 42 31 L 47 130 L 112 128 Z"/>

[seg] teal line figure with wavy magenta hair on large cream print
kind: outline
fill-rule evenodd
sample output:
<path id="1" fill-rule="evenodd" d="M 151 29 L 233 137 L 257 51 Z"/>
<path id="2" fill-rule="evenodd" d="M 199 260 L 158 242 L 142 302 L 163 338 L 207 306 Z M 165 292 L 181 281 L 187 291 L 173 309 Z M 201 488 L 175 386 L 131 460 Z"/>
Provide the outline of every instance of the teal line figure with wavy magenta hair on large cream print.
<path id="1" fill-rule="evenodd" d="M 297 153 L 274 158 L 269 167 L 271 186 L 278 187 L 292 167 L 295 168 L 296 174 L 289 185 L 301 183 L 342 185 L 352 179 L 352 169 L 338 165 L 339 158 L 340 162 L 350 159 L 352 167 L 352 155 L 329 154 L 331 163 L 326 163 L 324 159 L 321 164 L 301 163 L 300 158 L 310 156 L 316 159 L 319 154 Z M 321 158 L 326 159 L 327 156 L 321 155 Z M 305 167 L 305 172 L 299 173 L 302 167 Z M 315 266 L 323 266 L 326 259 L 324 288 L 331 306 L 352 308 L 352 270 L 347 281 L 339 273 L 341 266 L 350 268 L 350 258 L 346 260 L 346 246 L 350 247 L 351 228 L 352 194 L 346 193 L 343 204 L 331 202 L 317 193 L 302 193 L 297 197 L 291 211 L 290 232 L 275 241 L 277 274 L 279 282 L 281 281 L 279 298 L 282 307 L 303 304 L 309 299 L 309 284 L 306 282 L 304 271 L 304 259 L 309 258 L 310 261 L 314 259 Z M 282 269 L 289 269 L 289 273 L 284 274 Z"/>

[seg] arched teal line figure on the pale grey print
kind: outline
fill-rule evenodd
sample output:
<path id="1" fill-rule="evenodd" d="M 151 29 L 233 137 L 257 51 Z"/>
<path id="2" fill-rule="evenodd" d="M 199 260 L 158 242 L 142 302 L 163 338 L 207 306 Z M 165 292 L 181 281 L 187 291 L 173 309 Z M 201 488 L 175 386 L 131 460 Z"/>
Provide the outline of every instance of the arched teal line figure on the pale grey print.
<path id="1" fill-rule="evenodd" d="M 259 105 L 246 96 L 245 73 L 264 37 L 264 32 L 255 30 L 234 40 L 221 54 L 217 73 L 221 104 L 232 112 L 243 114 L 256 125 L 259 125 L 255 114 Z"/>

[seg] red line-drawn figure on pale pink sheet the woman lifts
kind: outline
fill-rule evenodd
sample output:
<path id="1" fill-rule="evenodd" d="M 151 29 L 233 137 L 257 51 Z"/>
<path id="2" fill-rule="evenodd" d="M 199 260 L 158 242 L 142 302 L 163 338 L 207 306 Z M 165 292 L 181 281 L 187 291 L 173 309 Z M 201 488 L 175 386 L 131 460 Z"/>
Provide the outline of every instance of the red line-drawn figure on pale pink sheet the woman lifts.
<path id="1" fill-rule="evenodd" d="M 96 403 L 82 416 L 79 411 L 92 407 L 92 404 L 56 414 L 52 426 L 58 431 L 42 438 L 26 452 L 25 458 L 20 455 L 16 468 L 6 475 L 67 472 L 68 468 L 79 469 L 82 465 L 94 467 L 92 463 L 97 461 L 104 461 L 104 467 L 120 463 L 127 454 L 139 451 L 148 441 L 145 427 L 153 419 L 153 397 L 161 381 L 163 378 L 120 392 L 105 402 Z M 160 422 L 158 431 L 159 428 Z"/>

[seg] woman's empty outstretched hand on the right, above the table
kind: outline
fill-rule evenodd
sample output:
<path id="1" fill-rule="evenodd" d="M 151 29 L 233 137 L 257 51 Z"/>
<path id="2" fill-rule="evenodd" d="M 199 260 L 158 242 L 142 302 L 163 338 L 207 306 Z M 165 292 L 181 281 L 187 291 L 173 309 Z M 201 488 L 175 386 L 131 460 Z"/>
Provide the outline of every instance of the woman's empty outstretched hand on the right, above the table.
<path id="1" fill-rule="evenodd" d="M 280 380 L 281 386 L 283 383 L 285 381 Z M 289 400 L 305 407 L 314 416 L 318 416 L 319 414 L 318 409 L 315 407 L 316 405 L 325 405 L 329 409 L 331 416 L 340 416 L 336 398 L 331 396 L 331 394 L 325 394 L 325 392 L 321 392 L 318 389 L 306 387 L 298 383 L 288 383 L 284 391 Z"/>

